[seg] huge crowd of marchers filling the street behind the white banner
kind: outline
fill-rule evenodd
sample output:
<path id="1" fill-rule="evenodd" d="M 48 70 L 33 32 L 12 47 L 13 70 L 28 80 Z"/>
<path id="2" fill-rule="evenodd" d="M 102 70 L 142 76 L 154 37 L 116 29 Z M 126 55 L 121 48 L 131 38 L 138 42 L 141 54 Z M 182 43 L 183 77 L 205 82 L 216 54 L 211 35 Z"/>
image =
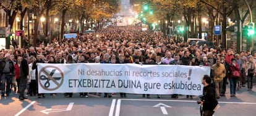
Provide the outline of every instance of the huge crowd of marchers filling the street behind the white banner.
<path id="1" fill-rule="evenodd" d="M 28 66 L 27 66 L 27 64 Z M 187 66 L 210 66 L 211 79 L 215 85 L 216 98 L 226 95 L 226 84 L 230 84 L 230 96 L 245 87 L 252 91 L 256 72 L 256 53 L 234 53 L 232 48 L 208 48 L 207 45 L 189 45 L 176 42 L 163 33 L 142 31 L 139 26 L 113 26 L 83 34 L 62 42 L 54 39 L 36 47 L 2 49 L 0 52 L 1 97 L 12 91 L 20 93 L 20 99 L 27 89 L 27 95 L 45 98 L 38 94 L 36 63 L 135 63 L 174 64 Z M 28 78 L 28 85 L 24 78 Z M 51 94 L 55 95 L 55 94 Z M 64 96 L 72 97 L 72 93 Z M 80 97 L 88 97 L 80 93 Z M 104 97 L 111 97 L 105 93 Z M 127 97 L 120 93 L 120 97 Z M 143 97 L 146 97 L 143 95 Z M 161 98 L 161 95 L 157 96 Z M 187 95 L 187 98 L 192 96 Z M 147 95 L 150 98 L 150 95 Z M 178 95 L 171 95 L 178 98 Z"/>

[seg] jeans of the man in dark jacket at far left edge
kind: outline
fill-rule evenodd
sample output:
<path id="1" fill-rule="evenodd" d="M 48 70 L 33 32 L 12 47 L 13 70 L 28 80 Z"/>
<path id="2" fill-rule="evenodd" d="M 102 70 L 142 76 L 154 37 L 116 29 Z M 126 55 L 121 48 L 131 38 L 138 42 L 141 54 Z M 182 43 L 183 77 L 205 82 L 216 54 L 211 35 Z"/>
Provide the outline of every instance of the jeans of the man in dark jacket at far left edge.
<path id="1" fill-rule="evenodd" d="M 2 95 L 6 93 L 6 95 L 9 96 L 9 94 L 11 93 L 12 76 L 10 74 L 1 74 L 1 81 Z"/>

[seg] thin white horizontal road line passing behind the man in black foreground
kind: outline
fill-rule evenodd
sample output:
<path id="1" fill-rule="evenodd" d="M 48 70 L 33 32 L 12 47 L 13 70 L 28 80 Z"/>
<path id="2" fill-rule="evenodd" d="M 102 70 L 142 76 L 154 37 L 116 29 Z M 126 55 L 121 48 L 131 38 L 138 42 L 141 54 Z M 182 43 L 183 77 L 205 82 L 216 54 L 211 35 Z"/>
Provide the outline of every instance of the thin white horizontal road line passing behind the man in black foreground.
<path id="1" fill-rule="evenodd" d="M 119 100 L 119 99 L 118 99 Z M 197 101 L 190 101 L 190 100 L 167 100 L 167 99 L 121 99 L 126 101 L 172 101 L 172 102 L 197 102 Z M 252 104 L 256 105 L 256 102 L 226 102 L 226 101 L 219 101 L 221 104 Z"/>

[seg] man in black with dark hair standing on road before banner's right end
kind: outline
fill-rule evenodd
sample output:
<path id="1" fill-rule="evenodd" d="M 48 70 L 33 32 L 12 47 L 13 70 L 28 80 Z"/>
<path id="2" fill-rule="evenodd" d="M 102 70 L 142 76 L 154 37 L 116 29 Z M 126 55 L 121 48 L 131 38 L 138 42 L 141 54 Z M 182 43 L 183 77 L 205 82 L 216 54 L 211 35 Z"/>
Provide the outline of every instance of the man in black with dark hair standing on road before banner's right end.
<path id="1" fill-rule="evenodd" d="M 199 103 L 203 105 L 203 116 L 212 116 L 218 105 L 215 88 L 211 83 L 211 77 L 209 75 L 203 75 L 202 83 L 203 97 Z"/>

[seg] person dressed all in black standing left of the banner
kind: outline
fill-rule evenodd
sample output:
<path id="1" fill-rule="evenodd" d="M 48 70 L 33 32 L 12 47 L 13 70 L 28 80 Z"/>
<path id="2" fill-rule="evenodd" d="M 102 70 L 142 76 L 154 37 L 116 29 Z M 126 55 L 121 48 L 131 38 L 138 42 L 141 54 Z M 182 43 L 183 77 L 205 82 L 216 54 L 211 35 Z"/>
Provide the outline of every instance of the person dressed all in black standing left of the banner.
<path id="1" fill-rule="evenodd" d="M 27 88 L 27 76 L 28 76 L 28 54 L 23 55 L 23 60 L 20 63 L 20 100 L 27 99 L 24 96 L 24 91 Z"/>

